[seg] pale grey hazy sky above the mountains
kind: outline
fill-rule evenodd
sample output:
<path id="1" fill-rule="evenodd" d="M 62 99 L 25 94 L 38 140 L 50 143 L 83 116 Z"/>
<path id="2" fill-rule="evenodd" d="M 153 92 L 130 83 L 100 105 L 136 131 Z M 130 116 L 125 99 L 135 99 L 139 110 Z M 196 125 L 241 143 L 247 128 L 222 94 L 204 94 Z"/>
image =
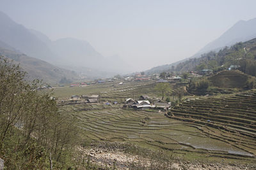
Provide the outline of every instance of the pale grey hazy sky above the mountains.
<path id="1" fill-rule="evenodd" d="M 88 41 L 137 71 L 190 57 L 239 20 L 256 17 L 255 0 L 0 0 L 15 22 L 50 39 Z"/>

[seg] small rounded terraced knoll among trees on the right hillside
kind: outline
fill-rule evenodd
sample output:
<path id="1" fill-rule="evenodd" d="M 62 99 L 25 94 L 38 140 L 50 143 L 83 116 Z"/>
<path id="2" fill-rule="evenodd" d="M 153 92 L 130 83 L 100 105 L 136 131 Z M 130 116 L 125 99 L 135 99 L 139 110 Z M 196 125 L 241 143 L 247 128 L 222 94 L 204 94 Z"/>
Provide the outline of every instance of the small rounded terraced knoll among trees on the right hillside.
<path id="1" fill-rule="evenodd" d="M 221 71 L 209 77 L 212 85 L 220 88 L 243 88 L 248 76 L 241 71 Z"/>

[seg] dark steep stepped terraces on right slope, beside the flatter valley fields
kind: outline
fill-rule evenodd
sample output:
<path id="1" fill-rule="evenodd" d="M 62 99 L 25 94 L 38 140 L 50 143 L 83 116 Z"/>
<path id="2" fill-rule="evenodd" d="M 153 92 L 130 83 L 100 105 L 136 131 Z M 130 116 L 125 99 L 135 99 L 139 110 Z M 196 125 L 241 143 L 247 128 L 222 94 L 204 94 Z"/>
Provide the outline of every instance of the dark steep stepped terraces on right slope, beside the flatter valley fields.
<path id="1" fill-rule="evenodd" d="M 255 90 L 221 98 L 190 99 L 172 108 L 170 113 L 177 120 L 202 125 L 211 138 L 256 155 Z"/>

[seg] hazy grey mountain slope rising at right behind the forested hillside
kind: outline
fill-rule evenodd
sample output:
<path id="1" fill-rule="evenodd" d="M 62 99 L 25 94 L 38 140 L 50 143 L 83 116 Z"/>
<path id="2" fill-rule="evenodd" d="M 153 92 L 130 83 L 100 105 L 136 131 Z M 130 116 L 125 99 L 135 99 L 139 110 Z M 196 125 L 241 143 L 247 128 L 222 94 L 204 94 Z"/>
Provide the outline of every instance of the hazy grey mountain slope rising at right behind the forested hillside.
<path id="1" fill-rule="evenodd" d="M 248 41 L 253 38 L 256 38 L 256 18 L 248 21 L 240 20 L 235 25 L 230 27 L 230 29 L 224 32 L 220 36 L 220 38 L 215 39 L 211 43 L 205 45 L 204 48 L 195 53 L 195 55 L 172 64 L 153 67 L 152 69 L 148 69 L 145 72 L 161 73 L 163 71 L 172 71 L 172 66 L 177 66 L 178 64 L 185 62 L 186 60 L 198 58 L 204 53 L 208 53 L 211 51 L 218 52 L 218 50 L 220 50 L 221 48 L 225 48 L 225 46 L 232 46 L 238 42 Z"/>

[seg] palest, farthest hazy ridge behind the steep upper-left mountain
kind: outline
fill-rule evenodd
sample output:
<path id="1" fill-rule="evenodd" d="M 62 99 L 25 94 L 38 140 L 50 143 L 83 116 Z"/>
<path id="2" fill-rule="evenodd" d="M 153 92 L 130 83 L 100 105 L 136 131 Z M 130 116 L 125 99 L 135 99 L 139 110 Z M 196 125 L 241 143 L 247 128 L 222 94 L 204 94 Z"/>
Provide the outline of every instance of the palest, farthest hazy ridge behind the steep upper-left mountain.
<path id="1" fill-rule="evenodd" d="M 31 32 L 49 46 L 55 54 L 54 60 L 58 66 L 86 73 L 90 78 L 100 78 L 100 75 L 102 78 L 106 78 L 106 76 L 127 73 L 132 70 L 132 67 L 118 55 L 103 57 L 87 41 L 76 38 L 61 38 L 51 41 L 41 32 L 35 30 L 31 30 Z"/>

